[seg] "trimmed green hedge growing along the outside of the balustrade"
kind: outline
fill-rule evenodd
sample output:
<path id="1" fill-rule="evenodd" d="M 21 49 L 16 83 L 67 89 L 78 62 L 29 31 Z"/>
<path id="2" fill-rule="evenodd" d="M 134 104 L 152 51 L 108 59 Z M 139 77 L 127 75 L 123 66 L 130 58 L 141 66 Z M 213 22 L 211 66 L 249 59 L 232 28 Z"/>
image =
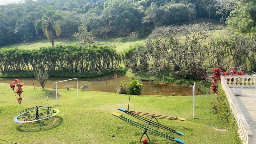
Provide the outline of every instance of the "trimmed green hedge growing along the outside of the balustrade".
<path id="1" fill-rule="evenodd" d="M 218 116 L 221 123 L 224 125 L 225 129 L 228 129 L 232 132 L 234 137 L 234 144 L 242 144 L 242 140 L 239 137 L 238 129 L 237 129 L 237 122 L 232 114 L 232 111 L 229 106 L 228 99 L 226 94 L 222 88 L 222 85 L 218 83 Z"/>

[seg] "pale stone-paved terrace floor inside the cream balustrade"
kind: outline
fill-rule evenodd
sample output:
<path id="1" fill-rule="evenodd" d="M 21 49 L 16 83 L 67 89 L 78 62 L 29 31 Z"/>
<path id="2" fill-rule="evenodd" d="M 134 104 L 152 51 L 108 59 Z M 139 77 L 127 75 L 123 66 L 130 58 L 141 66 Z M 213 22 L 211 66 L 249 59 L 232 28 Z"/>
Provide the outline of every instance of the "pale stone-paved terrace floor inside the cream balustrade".
<path id="1" fill-rule="evenodd" d="M 233 88 L 230 89 L 232 91 Z M 256 88 L 242 88 L 242 94 L 234 97 L 252 129 L 253 144 L 256 144 Z"/>

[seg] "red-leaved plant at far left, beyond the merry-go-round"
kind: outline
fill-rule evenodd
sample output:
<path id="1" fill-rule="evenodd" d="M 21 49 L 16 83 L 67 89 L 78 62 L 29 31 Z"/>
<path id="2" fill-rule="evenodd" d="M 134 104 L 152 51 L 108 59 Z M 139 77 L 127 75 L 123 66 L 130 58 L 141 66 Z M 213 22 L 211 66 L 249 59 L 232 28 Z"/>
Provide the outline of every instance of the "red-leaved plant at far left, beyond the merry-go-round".
<path id="1" fill-rule="evenodd" d="M 24 85 L 24 83 L 19 83 L 18 79 L 14 79 L 14 81 L 12 81 L 12 83 L 9 83 L 10 88 L 13 90 L 16 99 L 18 100 L 18 103 L 21 104 L 21 100 L 23 97 L 21 97 L 21 93 L 23 92 L 22 90 L 22 86 Z M 17 87 L 16 91 L 14 91 L 15 87 Z M 16 93 L 18 95 L 18 97 L 16 96 Z"/>

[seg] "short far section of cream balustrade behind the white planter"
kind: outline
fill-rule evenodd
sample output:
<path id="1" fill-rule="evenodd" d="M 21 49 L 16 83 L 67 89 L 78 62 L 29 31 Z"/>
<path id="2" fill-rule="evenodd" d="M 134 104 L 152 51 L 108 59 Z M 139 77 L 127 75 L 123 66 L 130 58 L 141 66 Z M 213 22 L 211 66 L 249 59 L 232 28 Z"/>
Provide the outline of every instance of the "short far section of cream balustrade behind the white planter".
<path id="1" fill-rule="evenodd" d="M 256 76 L 223 76 L 223 78 L 228 87 L 237 86 L 237 82 L 240 82 L 241 87 L 256 87 Z"/>

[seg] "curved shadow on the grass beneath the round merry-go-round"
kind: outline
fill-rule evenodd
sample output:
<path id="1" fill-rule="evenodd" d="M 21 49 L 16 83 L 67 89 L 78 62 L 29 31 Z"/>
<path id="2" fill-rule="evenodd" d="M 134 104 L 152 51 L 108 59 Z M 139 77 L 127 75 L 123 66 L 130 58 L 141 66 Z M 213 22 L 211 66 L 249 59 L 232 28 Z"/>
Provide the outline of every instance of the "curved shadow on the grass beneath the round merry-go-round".
<path id="1" fill-rule="evenodd" d="M 60 124 L 63 123 L 63 118 L 60 116 L 55 116 L 53 118 L 40 122 L 44 125 L 44 127 L 42 127 L 40 123 L 35 122 L 31 124 L 21 124 L 17 127 L 17 130 L 19 132 L 40 132 L 51 130 L 60 126 Z"/>

